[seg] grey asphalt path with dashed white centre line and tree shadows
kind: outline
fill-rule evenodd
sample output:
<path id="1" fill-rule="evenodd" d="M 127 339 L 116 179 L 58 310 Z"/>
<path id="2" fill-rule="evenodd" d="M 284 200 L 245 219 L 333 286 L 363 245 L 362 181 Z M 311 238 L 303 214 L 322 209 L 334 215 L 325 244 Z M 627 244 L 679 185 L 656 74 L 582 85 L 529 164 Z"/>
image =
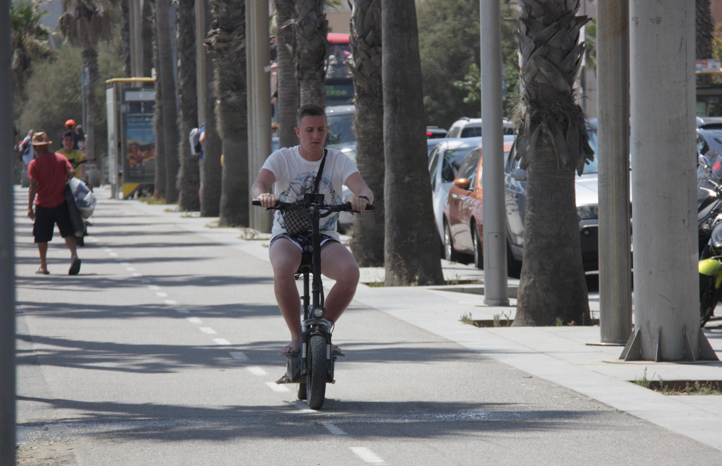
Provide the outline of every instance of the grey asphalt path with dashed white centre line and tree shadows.
<path id="1" fill-rule="evenodd" d="M 20 465 L 678 465 L 722 452 L 354 303 L 295 400 L 266 260 L 101 200 L 49 276 L 16 190 Z M 290 390 L 284 390 L 289 387 Z M 722 435 L 722 433 L 721 433 Z"/>

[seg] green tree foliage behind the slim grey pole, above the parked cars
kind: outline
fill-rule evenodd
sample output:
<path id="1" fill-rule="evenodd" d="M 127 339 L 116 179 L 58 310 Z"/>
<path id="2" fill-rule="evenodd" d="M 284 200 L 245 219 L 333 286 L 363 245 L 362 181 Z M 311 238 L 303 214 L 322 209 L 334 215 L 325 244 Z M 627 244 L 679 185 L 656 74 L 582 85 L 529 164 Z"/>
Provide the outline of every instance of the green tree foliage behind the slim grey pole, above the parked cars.
<path id="1" fill-rule="evenodd" d="M 507 1 L 500 0 L 503 18 L 512 17 Z M 479 1 L 425 0 L 417 3 L 419 52 L 424 84 L 424 107 L 429 125 L 449 128 L 459 117 L 478 117 L 481 113 L 478 79 L 472 65 L 479 69 Z M 502 58 L 516 61 L 514 26 L 502 22 Z M 507 83 L 518 83 L 518 72 L 507 69 Z M 478 71 L 477 71 L 478 74 Z M 459 84 L 455 83 L 466 83 Z M 514 89 L 518 89 L 517 87 Z M 510 97 L 508 93 L 508 97 Z"/>

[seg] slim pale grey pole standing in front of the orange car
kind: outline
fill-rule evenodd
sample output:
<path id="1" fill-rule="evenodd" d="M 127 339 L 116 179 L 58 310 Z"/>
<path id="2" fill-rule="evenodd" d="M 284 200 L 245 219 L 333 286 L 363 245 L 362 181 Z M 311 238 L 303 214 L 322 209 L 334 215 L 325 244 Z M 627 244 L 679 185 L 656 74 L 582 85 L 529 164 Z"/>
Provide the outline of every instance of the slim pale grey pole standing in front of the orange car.
<path id="1" fill-rule="evenodd" d="M 501 10 L 481 0 L 482 184 L 484 186 L 484 304 L 508 306 L 504 133 L 502 115 Z"/>

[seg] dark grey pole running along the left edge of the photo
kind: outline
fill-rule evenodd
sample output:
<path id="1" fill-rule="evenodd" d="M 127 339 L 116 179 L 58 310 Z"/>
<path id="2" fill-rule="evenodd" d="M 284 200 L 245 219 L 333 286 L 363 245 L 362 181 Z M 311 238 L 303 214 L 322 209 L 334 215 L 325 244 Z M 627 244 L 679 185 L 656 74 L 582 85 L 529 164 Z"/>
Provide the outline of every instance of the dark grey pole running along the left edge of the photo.
<path id="1" fill-rule="evenodd" d="M 9 8 L 0 8 L 0 465 L 15 464 L 15 263 Z M 27 196 L 19 199 L 25 206 Z"/>

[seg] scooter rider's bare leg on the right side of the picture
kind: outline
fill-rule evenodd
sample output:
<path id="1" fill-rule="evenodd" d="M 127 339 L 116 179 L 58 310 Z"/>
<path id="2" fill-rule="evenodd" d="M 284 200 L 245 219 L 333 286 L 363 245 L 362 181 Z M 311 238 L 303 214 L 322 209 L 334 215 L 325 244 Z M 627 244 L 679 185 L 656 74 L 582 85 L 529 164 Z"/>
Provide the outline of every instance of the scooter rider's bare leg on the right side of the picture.
<path id="1" fill-rule="evenodd" d="M 359 266 L 347 248 L 339 242 L 329 241 L 321 247 L 321 272 L 336 284 L 326 295 L 326 317 L 336 322 L 349 307 L 359 283 Z M 334 353 L 340 353 L 336 348 Z"/>

